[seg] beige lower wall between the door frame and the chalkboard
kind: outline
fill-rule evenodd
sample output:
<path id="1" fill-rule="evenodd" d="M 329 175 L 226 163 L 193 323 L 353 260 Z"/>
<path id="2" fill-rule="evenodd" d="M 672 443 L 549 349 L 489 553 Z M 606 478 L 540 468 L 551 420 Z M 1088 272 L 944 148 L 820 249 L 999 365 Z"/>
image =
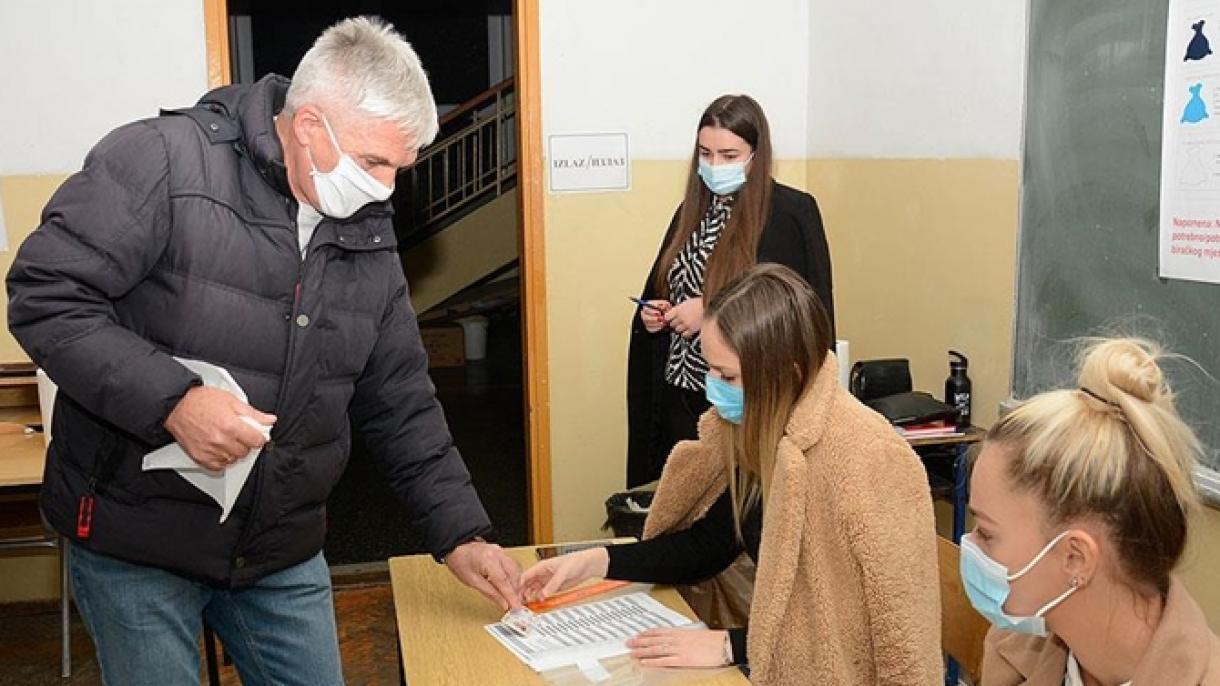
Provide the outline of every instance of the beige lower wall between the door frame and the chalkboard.
<path id="1" fill-rule="evenodd" d="M 630 193 L 547 198 L 556 540 L 597 535 L 601 503 L 623 486 L 626 297 L 656 255 L 686 165 L 636 161 Z M 777 177 L 819 200 L 853 358 L 910 358 L 916 386 L 939 394 L 946 350 L 960 348 L 976 415 L 991 421 L 1011 358 L 1016 162 L 797 160 Z"/>

